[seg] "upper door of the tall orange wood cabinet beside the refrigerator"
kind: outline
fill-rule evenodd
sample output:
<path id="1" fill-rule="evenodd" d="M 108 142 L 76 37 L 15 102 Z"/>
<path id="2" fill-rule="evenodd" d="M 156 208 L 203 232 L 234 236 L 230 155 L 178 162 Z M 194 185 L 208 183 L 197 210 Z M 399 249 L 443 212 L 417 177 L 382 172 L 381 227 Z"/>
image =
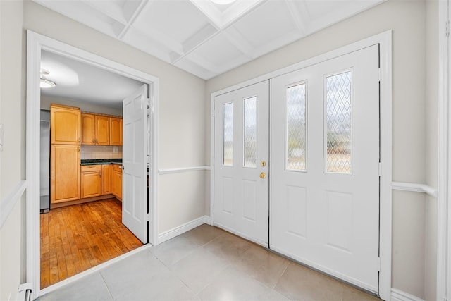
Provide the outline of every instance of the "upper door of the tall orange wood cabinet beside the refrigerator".
<path id="1" fill-rule="evenodd" d="M 52 145 L 80 145 L 81 113 L 79 108 L 51 104 L 50 133 Z"/>

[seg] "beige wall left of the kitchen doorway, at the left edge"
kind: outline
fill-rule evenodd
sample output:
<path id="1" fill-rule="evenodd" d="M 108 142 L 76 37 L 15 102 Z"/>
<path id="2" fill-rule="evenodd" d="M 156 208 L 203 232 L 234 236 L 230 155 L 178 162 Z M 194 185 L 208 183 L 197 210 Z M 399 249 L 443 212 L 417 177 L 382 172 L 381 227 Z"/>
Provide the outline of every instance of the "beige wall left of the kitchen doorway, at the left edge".
<path id="1" fill-rule="evenodd" d="M 22 2 L 0 1 L 0 202 L 25 178 L 25 93 L 23 90 Z M 0 229 L 0 300 L 16 300 L 23 264 L 23 202 Z"/>

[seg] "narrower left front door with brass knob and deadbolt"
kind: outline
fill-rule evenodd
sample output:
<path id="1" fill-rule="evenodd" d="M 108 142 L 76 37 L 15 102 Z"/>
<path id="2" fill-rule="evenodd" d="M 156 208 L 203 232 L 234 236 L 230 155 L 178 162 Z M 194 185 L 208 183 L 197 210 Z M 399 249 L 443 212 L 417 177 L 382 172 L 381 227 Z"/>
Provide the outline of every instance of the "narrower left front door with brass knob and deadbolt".
<path id="1" fill-rule="evenodd" d="M 268 81 L 215 97 L 214 223 L 268 246 Z"/>

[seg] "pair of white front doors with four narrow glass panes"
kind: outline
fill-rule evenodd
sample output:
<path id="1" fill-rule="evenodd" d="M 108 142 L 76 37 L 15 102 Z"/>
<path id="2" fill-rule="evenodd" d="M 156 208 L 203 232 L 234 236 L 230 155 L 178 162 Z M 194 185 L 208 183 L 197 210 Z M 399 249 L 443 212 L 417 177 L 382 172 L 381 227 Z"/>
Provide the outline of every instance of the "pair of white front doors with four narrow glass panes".
<path id="1" fill-rule="evenodd" d="M 375 45 L 214 104 L 214 223 L 375 293 L 378 61 Z"/>

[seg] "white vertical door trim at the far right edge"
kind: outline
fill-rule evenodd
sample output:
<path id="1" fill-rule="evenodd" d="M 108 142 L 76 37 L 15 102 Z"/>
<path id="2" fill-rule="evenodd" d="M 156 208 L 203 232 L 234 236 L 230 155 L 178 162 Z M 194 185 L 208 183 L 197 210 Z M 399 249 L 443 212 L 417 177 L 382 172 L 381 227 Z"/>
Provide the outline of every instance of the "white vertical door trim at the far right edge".
<path id="1" fill-rule="evenodd" d="M 438 1 L 438 191 L 437 199 L 437 300 L 447 300 L 451 293 L 451 190 L 450 178 L 450 78 L 449 38 L 446 23 L 449 20 L 448 1 Z M 448 232 L 448 233 L 447 233 Z"/>

